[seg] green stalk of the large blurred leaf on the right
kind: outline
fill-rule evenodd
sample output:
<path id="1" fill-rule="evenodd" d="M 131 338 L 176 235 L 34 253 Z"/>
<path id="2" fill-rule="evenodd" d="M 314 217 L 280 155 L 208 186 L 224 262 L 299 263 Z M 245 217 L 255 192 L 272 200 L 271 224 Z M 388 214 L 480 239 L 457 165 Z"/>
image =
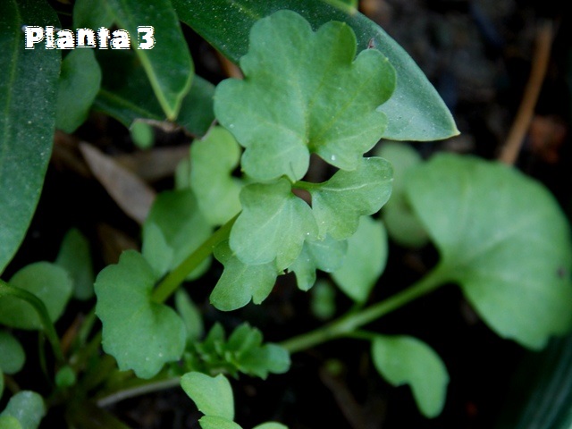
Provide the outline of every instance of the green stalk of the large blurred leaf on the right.
<path id="1" fill-rule="evenodd" d="M 403 307 L 409 302 L 437 289 L 447 279 L 448 277 L 442 269 L 442 265 L 438 265 L 432 272 L 425 275 L 423 279 L 409 286 L 408 289 L 402 290 L 392 297 L 356 313 L 342 315 L 331 324 L 326 324 L 315 331 L 303 333 L 297 337 L 290 338 L 290 340 L 282 341 L 280 345 L 290 353 L 295 353 L 335 338 L 347 336 L 357 328 L 374 322 L 374 320 L 379 319 L 383 315 L 387 315 L 391 311 Z"/>

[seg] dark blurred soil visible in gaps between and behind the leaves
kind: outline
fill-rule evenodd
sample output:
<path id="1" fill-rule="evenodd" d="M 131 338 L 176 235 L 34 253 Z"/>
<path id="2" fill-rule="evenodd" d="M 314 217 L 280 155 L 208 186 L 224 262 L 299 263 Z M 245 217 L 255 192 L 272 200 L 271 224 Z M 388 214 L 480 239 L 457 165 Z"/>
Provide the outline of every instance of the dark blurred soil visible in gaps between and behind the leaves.
<path id="1" fill-rule="evenodd" d="M 536 29 L 543 20 L 551 20 L 555 29 L 551 62 L 517 167 L 543 181 L 569 214 L 572 35 L 564 4 L 551 0 L 363 0 L 360 8 L 405 47 L 458 123 L 462 134 L 455 139 L 415 144 L 423 156 L 437 150 L 488 159 L 498 156 L 526 86 Z M 214 83 L 225 78 L 212 48 L 190 30 L 185 32 L 198 74 Z M 127 130 L 97 114 L 77 134 L 108 155 L 139 150 Z M 188 143 L 182 134 L 159 132 L 157 136 L 157 147 Z M 172 181 L 159 179 L 153 186 L 167 189 Z M 77 141 L 60 135 L 29 236 L 6 278 L 29 262 L 54 260 L 71 226 L 80 228 L 93 243 L 97 271 L 113 263 L 123 248 L 139 246 L 139 226 L 89 174 Z M 436 258 L 433 248 L 410 250 L 391 244 L 387 270 L 372 299 L 383 299 L 408 286 Z M 207 326 L 220 321 L 231 330 L 247 320 L 265 332 L 267 341 L 282 341 L 321 324 L 312 315 L 308 295 L 296 289 L 290 276 L 280 279 L 262 306 L 250 305 L 231 314 L 215 311 L 207 304 L 208 293 L 220 273 L 221 267 L 214 265 L 189 288 L 205 312 Z M 340 309 L 350 305 L 339 296 Z M 58 327 L 65 329 L 70 323 L 63 320 Z M 393 388 L 375 372 L 366 343 L 344 340 L 294 355 L 288 374 L 271 375 L 266 381 L 244 376 L 233 381 L 237 421 L 253 427 L 276 420 L 290 429 L 476 429 L 492 428 L 508 406 L 512 375 L 526 351 L 501 340 L 480 322 L 458 288 L 442 288 L 371 329 L 415 335 L 442 356 L 450 371 L 442 416 L 433 420 L 420 416 L 408 387 Z M 27 367 L 34 364 L 33 357 L 29 358 Z M 21 384 L 26 385 L 25 381 Z M 148 429 L 198 428 L 200 416 L 180 389 L 124 400 L 109 409 L 131 427 Z M 42 427 L 59 427 L 54 422 L 61 421 L 48 416 Z"/>

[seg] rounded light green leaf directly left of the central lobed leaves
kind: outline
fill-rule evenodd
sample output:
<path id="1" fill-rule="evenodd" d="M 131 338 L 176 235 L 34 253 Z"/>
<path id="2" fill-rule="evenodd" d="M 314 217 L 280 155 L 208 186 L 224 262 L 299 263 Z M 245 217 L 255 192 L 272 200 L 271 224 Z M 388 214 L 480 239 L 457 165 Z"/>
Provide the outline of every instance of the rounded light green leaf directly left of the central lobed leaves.
<path id="1" fill-rule="evenodd" d="M 222 225 L 240 212 L 242 183 L 231 176 L 239 163 L 240 146 L 222 127 L 210 130 L 190 147 L 190 187 L 213 225 Z"/>

